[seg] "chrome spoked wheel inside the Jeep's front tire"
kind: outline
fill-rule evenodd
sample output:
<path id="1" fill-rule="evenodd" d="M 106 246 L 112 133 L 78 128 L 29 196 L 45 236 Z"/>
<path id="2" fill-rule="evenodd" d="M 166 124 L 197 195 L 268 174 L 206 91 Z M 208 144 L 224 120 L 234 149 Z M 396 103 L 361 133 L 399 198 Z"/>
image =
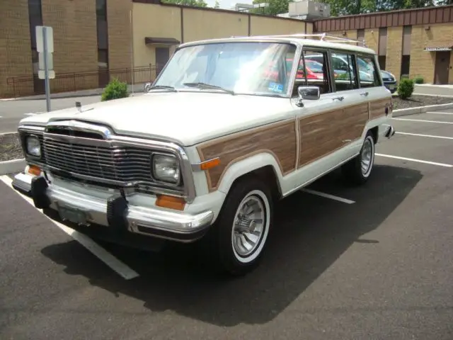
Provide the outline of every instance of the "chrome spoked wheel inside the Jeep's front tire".
<path id="1" fill-rule="evenodd" d="M 243 263 L 253 261 L 263 249 L 270 223 L 268 198 L 251 191 L 239 204 L 231 231 L 234 256 Z"/>

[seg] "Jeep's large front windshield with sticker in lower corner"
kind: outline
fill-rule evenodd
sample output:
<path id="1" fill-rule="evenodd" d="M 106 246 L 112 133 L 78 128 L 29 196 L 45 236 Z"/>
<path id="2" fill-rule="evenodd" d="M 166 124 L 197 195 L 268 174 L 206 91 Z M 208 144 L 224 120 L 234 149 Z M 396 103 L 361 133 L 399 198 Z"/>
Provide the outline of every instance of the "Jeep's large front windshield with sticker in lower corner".
<path id="1" fill-rule="evenodd" d="M 295 45 L 276 42 L 222 42 L 183 47 L 176 51 L 155 86 L 188 91 L 285 95 Z M 194 84 L 203 84 L 197 89 Z M 207 87 L 209 84 L 210 87 Z"/>

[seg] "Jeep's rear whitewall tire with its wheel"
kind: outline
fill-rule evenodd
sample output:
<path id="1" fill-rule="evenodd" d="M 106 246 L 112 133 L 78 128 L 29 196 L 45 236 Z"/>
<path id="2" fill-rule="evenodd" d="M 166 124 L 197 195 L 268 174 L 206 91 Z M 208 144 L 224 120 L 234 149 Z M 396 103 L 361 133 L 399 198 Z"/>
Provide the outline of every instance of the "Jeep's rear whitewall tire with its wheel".
<path id="1" fill-rule="evenodd" d="M 362 185 L 368 181 L 374 166 L 374 138 L 367 132 L 360 153 L 357 157 L 342 166 L 343 176 L 353 185 Z"/>

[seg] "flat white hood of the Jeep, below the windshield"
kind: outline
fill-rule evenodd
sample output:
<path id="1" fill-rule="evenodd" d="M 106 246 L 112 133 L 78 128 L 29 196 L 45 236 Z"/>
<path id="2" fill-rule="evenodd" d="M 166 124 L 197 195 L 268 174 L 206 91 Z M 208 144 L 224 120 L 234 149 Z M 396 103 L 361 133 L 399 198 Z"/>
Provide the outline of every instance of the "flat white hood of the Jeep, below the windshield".
<path id="1" fill-rule="evenodd" d="M 289 98 L 190 92 L 149 93 L 33 115 L 20 124 L 45 125 L 76 119 L 110 126 L 118 135 L 147 137 L 190 146 L 289 118 Z"/>

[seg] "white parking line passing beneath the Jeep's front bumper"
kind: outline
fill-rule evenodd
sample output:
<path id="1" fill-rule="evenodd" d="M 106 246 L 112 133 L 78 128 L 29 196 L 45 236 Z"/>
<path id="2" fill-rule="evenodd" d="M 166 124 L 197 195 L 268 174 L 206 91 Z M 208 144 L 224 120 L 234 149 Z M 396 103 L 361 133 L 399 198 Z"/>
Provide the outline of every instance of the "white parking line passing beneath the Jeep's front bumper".
<path id="1" fill-rule="evenodd" d="M 11 186 L 11 183 L 13 180 L 9 178 L 8 176 L 0 176 L 0 180 L 3 181 L 7 186 L 9 186 L 14 192 L 18 193 L 13 186 Z M 28 203 L 33 205 L 33 208 L 35 205 L 33 204 L 33 200 L 27 196 L 22 195 L 21 193 L 18 193 L 24 200 L 26 200 Z M 38 210 L 38 209 L 36 209 Z M 40 212 L 40 210 L 38 210 Z M 47 216 L 46 216 L 47 217 Z M 49 218 L 49 217 L 47 217 Z M 90 237 L 86 236 L 85 234 L 81 234 L 80 232 L 76 232 L 76 230 L 71 229 L 67 227 L 66 225 L 62 225 L 62 223 L 56 222 L 54 220 L 51 220 L 57 227 L 62 229 L 64 232 L 66 232 L 70 237 L 78 241 L 82 246 L 84 246 L 86 249 L 91 251 L 98 259 L 103 261 L 107 266 L 113 269 L 113 271 L 117 272 L 125 278 L 126 280 L 130 280 L 131 278 L 137 278 L 139 274 L 132 270 L 129 266 L 127 266 L 125 263 L 122 261 L 118 260 L 115 256 L 110 254 L 108 251 L 103 249 L 99 244 L 93 241 Z"/>

